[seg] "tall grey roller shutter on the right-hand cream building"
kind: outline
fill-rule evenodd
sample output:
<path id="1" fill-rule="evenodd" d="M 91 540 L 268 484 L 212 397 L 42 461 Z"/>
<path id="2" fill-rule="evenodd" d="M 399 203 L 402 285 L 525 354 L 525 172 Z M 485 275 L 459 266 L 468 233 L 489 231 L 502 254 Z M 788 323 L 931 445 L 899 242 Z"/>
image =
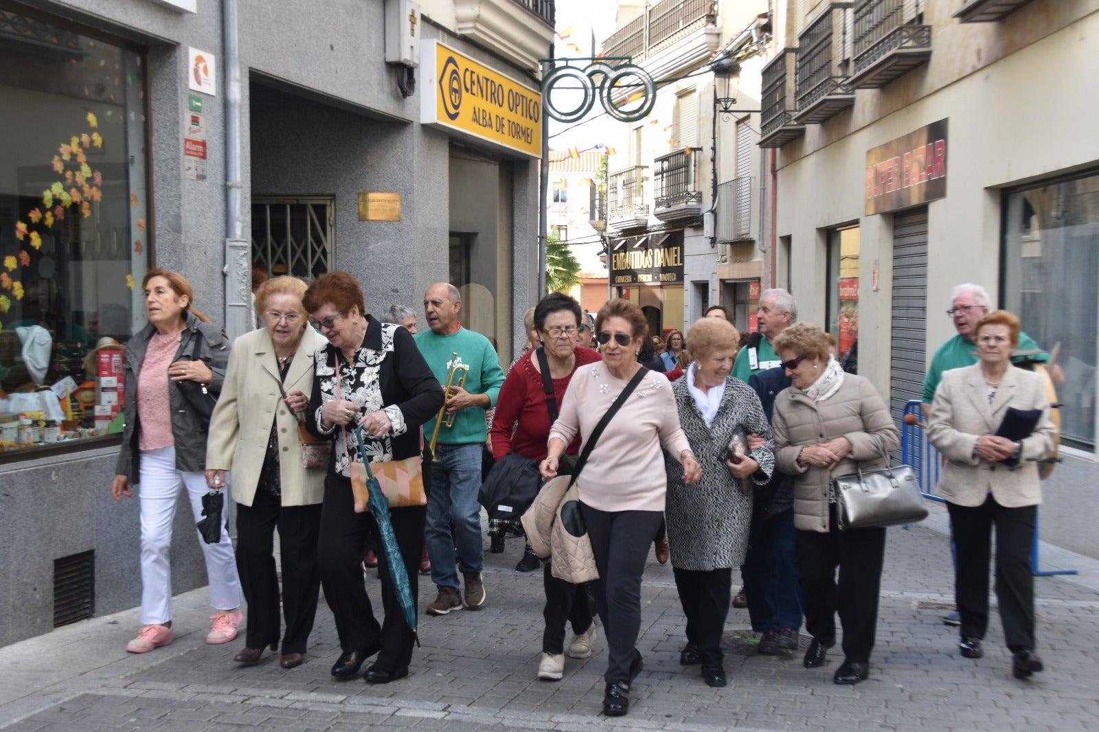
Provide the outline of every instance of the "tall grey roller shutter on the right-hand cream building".
<path id="1" fill-rule="evenodd" d="M 892 358 L 889 406 L 899 420 L 923 392 L 928 351 L 928 209 L 893 217 Z"/>

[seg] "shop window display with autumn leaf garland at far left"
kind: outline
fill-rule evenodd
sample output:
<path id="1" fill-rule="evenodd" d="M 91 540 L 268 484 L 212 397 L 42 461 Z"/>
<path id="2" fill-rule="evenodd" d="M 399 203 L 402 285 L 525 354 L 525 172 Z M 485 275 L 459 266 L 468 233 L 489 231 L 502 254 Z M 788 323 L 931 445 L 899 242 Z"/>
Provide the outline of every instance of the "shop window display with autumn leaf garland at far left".
<path id="1" fill-rule="evenodd" d="M 141 53 L 0 3 L 0 455 L 121 431 L 143 318 Z"/>

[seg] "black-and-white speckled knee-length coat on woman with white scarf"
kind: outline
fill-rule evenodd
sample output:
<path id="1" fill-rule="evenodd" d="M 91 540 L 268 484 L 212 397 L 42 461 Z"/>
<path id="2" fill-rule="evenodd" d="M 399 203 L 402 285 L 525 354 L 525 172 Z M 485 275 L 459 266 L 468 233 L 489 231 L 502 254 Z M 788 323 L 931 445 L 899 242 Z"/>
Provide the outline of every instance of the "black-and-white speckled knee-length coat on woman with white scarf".
<path id="1" fill-rule="evenodd" d="M 743 490 L 725 465 L 725 448 L 733 431 L 755 432 L 767 440 L 753 450 L 752 458 L 759 469 L 752 476 L 754 484 L 766 484 L 775 469 L 770 425 L 759 397 L 744 381 L 732 376 L 725 379 L 725 391 L 711 426 L 687 389 L 687 377 L 671 385 L 679 411 L 679 425 L 687 435 L 695 458 L 702 466 L 702 478 L 693 486 L 682 479 L 682 468 L 669 455 L 664 456 L 668 473 L 668 496 L 665 518 L 671 565 L 677 569 L 710 572 L 735 568 L 744 563 L 748 529 L 752 524 L 752 490 Z"/>

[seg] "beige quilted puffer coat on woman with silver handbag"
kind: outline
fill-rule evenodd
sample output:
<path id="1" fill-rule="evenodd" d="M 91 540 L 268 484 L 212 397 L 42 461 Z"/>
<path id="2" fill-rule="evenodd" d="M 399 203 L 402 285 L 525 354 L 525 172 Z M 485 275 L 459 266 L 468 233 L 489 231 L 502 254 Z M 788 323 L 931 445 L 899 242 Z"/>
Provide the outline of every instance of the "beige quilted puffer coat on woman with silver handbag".
<path id="1" fill-rule="evenodd" d="M 782 473 L 797 476 L 793 486 L 793 525 L 802 531 L 829 530 L 829 486 L 834 476 L 881 465 L 900 444 L 900 431 L 889 408 L 868 379 L 844 374 L 840 389 L 813 402 L 801 389 L 789 387 L 775 398 L 775 461 Z M 801 467 L 798 454 L 807 445 L 846 437 L 851 453 L 832 470 Z"/>

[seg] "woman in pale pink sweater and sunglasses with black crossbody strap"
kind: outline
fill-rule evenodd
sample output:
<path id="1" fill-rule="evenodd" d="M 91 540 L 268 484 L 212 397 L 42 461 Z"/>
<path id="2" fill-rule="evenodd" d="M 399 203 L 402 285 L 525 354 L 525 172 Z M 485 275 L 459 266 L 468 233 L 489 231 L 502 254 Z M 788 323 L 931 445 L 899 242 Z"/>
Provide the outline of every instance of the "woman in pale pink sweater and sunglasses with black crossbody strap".
<path id="1" fill-rule="evenodd" d="M 578 368 L 569 382 L 560 417 L 550 431 L 550 454 L 540 466 L 543 477 L 557 475 L 557 461 L 577 433 L 587 443 L 643 368 L 636 355 L 647 334 L 645 315 L 629 300 L 611 300 L 599 311 L 596 340 L 602 362 Z M 664 517 L 668 484 L 663 451 L 682 464 L 686 483 L 698 481 L 702 468 L 679 428 L 670 385 L 663 374 L 652 371 L 642 376 L 620 406 L 576 479 L 600 577 L 596 606 L 609 648 L 603 674 L 603 713 L 608 717 L 629 711 L 630 685 L 642 669 L 636 648 L 641 576 Z"/>

